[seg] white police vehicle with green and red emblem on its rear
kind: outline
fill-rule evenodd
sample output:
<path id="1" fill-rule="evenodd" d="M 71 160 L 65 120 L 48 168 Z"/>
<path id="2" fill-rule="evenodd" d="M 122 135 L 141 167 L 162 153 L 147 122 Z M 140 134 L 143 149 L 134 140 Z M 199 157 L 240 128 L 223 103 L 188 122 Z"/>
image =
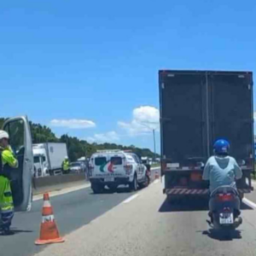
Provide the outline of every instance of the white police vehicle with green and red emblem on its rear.
<path id="1" fill-rule="evenodd" d="M 105 185 L 117 189 L 129 185 L 131 190 L 148 186 L 150 177 L 147 167 L 136 154 L 121 150 L 99 150 L 92 154 L 89 162 L 91 189 L 100 193 Z"/>

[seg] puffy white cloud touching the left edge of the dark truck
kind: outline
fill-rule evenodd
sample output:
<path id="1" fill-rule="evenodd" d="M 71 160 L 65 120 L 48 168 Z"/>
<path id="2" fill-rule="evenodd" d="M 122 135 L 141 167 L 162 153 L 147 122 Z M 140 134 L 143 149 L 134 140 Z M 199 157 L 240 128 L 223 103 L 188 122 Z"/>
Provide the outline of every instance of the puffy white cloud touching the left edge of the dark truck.
<path id="1" fill-rule="evenodd" d="M 130 136 L 146 135 L 152 130 L 159 131 L 160 113 L 157 108 L 141 106 L 132 111 L 131 122 L 119 121 L 119 127 L 125 129 Z"/>

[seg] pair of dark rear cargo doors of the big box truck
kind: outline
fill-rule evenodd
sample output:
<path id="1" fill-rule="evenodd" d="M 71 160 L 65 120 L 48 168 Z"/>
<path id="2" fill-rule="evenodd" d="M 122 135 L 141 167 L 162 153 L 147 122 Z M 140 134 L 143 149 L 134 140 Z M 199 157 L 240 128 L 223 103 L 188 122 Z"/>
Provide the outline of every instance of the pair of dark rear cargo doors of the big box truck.
<path id="1" fill-rule="evenodd" d="M 172 163 L 205 162 L 222 137 L 231 155 L 252 162 L 253 74 L 160 71 L 160 126 L 161 154 Z"/>

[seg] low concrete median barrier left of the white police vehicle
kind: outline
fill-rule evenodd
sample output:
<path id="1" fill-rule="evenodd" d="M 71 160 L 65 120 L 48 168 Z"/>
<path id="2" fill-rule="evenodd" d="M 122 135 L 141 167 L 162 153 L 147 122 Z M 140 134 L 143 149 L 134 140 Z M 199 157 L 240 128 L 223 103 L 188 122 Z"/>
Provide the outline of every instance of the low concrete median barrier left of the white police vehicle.
<path id="1" fill-rule="evenodd" d="M 48 177 L 38 177 L 32 179 L 33 195 L 42 194 L 44 192 L 60 190 L 72 187 L 74 184 L 82 184 L 88 182 L 85 173 L 65 174 Z"/>

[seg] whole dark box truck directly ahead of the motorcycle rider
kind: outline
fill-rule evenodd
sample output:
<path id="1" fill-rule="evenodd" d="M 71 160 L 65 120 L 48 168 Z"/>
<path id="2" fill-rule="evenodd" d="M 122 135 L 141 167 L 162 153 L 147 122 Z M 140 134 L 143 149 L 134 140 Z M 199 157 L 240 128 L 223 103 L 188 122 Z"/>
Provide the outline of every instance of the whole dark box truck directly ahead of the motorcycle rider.
<path id="1" fill-rule="evenodd" d="M 160 71 L 161 175 L 169 201 L 208 196 L 203 168 L 218 138 L 241 166 L 242 198 L 254 170 L 253 73 Z"/>

